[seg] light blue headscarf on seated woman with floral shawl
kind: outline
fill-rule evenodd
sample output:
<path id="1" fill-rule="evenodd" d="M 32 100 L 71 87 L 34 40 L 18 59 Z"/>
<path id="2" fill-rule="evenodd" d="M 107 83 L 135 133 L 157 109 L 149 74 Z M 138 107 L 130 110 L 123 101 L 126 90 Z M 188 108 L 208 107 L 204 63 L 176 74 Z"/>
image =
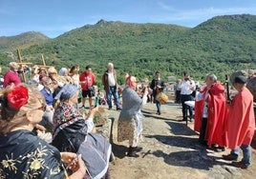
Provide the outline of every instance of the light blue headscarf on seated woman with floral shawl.
<path id="1" fill-rule="evenodd" d="M 77 91 L 77 86 L 72 84 L 66 84 L 60 91 L 57 93 L 57 95 L 54 97 L 55 100 L 65 100 L 70 99 L 72 96 L 75 95 L 75 92 Z"/>

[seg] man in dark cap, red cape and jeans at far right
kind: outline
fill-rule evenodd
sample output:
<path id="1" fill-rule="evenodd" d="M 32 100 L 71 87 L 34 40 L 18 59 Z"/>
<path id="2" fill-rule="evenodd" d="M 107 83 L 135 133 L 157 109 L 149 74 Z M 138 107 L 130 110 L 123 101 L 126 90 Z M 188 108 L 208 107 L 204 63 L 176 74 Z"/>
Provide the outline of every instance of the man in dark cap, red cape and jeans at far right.
<path id="1" fill-rule="evenodd" d="M 243 159 L 240 162 L 232 162 L 232 165 L 247 169 L 251 163 L 250 143 L 255 129 L 255 117 L 253 111 L 253 96 L 245 87 L 246 77 L 240 75 L 234 80 L 234 87 L 238 93 L 228 103 L 227 118 L 227 147 L 232 149 L 230 154 L 223 155 L 224 160 L 237 160 L 239 148 L 243 150 Z"/>

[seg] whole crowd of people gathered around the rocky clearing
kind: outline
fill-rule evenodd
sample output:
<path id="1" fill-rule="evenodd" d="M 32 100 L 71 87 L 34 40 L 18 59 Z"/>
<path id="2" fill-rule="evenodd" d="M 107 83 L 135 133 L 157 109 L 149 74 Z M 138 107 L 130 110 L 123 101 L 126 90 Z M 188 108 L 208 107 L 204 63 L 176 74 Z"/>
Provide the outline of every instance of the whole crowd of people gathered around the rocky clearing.
<path id="1" fill-rule="evenodd" d="M 127 74 L 125 87 L 121 88 L 114 64 L 109 63 L 101 77 L 104 94 L 96 90 L 96 75 L 90 66 L 81 73 L 77 66 L 58 72 L 53 67 L 35 66 L 29 84 L 22 83 L 17 63 L 11 62 L 9 67 L 1 77 L 0 178 L 109 178 L 109 161 L 114 159 L 112 146 L 93 132 L 98 105 L 104 103 L 110 110 L 116 106 L 120 111 L 117 142 L 128 140 L 127 156 L 139 157 L 143 129 L 140 108 L 152 102 L 157 115 L 161 115 L 161 104 L 167 100 L 162 99 L 166 83 L 159 70 L 148 86 L 141 87 L 135 76 Z M 181 104 L 182 121 L 189 118 L 194 122 L 200 144 L 216 151 L 231 149 L 230 154 L 223 155 L 224 160 L 247 169 L 255 129 L 253 96 L 246 89 L 244 75 L 236 76 L 232 85 L 237 94 L 230 100 L 215 74 L 208 74 L 200 88 L 189 72 L 184 72 L 174 88 L 175 103 Z M 84 109 L 88 112 L 83 113 Z M 46 128 L 52 132 L 50 143 L 37 136 Z M 236 162 L 239 148 L 243 159 Z"/>

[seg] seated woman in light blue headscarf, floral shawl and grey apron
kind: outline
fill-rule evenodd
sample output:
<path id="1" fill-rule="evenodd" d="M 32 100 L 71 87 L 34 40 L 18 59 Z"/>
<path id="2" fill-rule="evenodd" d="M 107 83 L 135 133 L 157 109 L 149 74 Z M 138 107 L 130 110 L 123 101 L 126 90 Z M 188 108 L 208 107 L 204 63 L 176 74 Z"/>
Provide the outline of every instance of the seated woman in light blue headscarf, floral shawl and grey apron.
<path id="1" fill-rule="evenodd" d="M 81 154 L 88 169 L 87 177 L 108 178 L 111 145 L 102 135 L 90 133 L 97 108 L 92 109 L 86 119 L 77 108 L 77 98 L 77 87 L 71 84 L 55 96 L 60 103 L 53 115 L 53 146 L 60 151 Z"/>

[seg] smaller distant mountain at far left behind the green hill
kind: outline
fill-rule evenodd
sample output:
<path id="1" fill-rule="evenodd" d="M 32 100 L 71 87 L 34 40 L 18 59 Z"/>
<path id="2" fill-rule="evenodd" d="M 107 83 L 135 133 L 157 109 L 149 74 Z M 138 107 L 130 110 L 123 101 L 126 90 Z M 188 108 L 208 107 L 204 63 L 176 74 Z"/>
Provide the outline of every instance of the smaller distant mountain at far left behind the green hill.
<path id="1" fill-rule="evenodd" d="M 29 31 L 16 36 L 0 36 L 0 52 L 24 49 L 50 39 L 40 32 Z"/>

